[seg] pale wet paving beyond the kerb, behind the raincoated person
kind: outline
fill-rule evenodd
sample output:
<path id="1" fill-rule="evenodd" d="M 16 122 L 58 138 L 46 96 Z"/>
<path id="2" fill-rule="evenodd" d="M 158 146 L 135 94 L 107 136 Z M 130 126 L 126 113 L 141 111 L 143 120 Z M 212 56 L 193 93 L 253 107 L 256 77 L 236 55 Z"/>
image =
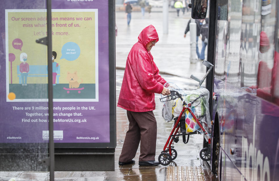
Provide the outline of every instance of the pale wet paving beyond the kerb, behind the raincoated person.
<path id="1" fill-rule="evenodd" d="M 132 12 L 130 26 L 127 25 L 125 12 L 115 13 L 115 22 L 118 28 L 115 39 L 116 67 L 125 67 L 127 55 L 138 40 L 141 30 L 152 24 L 158 32 L 159 41 L 152 48 L 151 53 L 159 70 L 185 78 L 187 84 L 196 85 L 196 82 L 189 78 L 190 75 L 194 74 L 196 77 L 203 77 L 206 68 L 198 60 L 196 64 L 190 64 L 190 32 L 187 33 L 186 38 L 183 35 L 191 13 L 188 12 L 185 15 L 180 13 L 180 17 L 177 17 L 175 11 L 168 14 L 168 34 L 163 34 L 162 12 L 151 12 L 150 17 L 146 13 L 144 19 L 141 17 L 141 12 Z M 201 39 L 198 40 L 198 47 L 200 51 L 202 48 Z M 207 48 L 205 57 L 206 55 Z"/>

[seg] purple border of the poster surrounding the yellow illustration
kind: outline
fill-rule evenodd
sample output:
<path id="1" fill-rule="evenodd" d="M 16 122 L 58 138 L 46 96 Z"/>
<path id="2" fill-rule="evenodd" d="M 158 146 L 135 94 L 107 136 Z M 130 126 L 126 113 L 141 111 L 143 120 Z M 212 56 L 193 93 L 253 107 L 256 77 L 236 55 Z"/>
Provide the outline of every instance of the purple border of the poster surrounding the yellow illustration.
<path id="1" fill-rule="evenodd" d="M 23 1 L 22 1 L 23 2 Z M 45 8 L 45 1 L 38 1 L 38 7 L 34 7 L 35 1 L 26 0 L 20 7 L 19 1 L 5 2 L 3 8 L 1 8 L 0 22 L 5 24 L 5 9 L 39 9 Z M 54 102 L 54 113 L 60 113 L 59 108 L 82 108 L 79 111 L 74 111 L 76 114 L 82 115 L 80 122 L 70 122 L 70 120 L 79 120 L 78 117 L 73 116 L 70 118 L 63 118 L 65 122 L 54 122 L 54 134 L 61 136 L 62 140 L 55 140 L 55 143 L 87 143 L 92 145 L 110 144 L 115 142 L 115 136 L 111 135 L 115 132 L 115 126 L 111 125 L 111 106 L 110 106 L 110 75 L 109 75 L 109 2 L 107 1 L 69 1 L 69 0 L 53 0 L 52 9 L 97 9 L 98 10 L 98 82 L 99 82 L 99 101 L 98 102 Z M 114 11 L 113 11 L 114 12 Z M 114 20 L 113 20 L 114 21 Z M 0 32 L 5 32 L 3 27 L 0 28 Z M 3 36 L 2 36 L 3 37 Z M 35 41 L 35 40 L 34 40 Z M 4 43 L 4 41 L 3 41 Z M 10 42 L 9 42 L 10 43 Z M 4 44 L 0 42 L 0 51 L 3 53 L 0 55 L 1 70 L 6 70 L 6 61 L 8 59 L 5 55 Z M 1 74 L 1 85 L 5 85 L 6 72 Z M 5 79 L 3 78 L 5 77 Z M 47 102 L 6 102 L 6 88 L 1 87 L 1 121 L 0 121 L 0 142 L 1 143 L 40 143 L 48 142 L 43 140 L 44 133 L 47 135 L 48 124 L 46 123 L 33 123 L 26 124 L 22 121 L 23 115 L 26 115 L 26 111 L 13 110 L 13 107 L 25 108 L 32 106 L 47 106 Z M 73 110 L 65 109 L 63 113 L 74 113 Z M 38 112 L 38 111 L 37 111 Z M 46 113 L 47 111 L 41 111 Z M 35 111 L 28 111 L 29 114 L 36 118 Z M 25 119 L 25 118 L 24 118 Z M 62 119 L 59 116 L 54 116 L 54 119 Z M 5 120 L 5 121 L 4 121 Z M 28 120 L 28 119 L 27 119 Z M 68 120 L 68 121 L 67 121 Z M 86 122 L 81 121 L 86 120 Z M 63 131 L 63 133 L 61 132 Z M 17 133 L 13 135 L 11 133 Z M 21 137 L 21 139 L 7 139 L 7 137 Z M 62 146 L 63 147 L 63 146 Z M 93 146 L 94 147 L 94 146 Z"/>

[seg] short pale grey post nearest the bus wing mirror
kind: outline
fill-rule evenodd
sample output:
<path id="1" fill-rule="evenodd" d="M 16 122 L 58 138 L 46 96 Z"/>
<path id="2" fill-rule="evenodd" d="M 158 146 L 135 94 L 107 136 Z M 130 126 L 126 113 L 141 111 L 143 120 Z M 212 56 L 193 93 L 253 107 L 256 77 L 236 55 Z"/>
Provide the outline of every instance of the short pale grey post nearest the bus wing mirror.
<path id="1" fill-rule="evenodd" d="M 195 20 L 191 18 L 190 23 L 190 62 L 195 64 L 196 59 L 196 46 L 197 46 L 197 24 Z"/>

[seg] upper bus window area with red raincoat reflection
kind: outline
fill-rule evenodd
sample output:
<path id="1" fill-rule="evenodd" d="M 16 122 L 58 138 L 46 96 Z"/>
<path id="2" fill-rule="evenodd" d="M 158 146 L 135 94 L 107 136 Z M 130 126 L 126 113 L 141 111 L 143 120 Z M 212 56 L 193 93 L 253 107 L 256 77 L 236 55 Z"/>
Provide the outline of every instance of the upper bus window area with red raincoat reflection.
<path id="1" fill-rule="evenodd" d="M 255 7 L 252 3 L 255 2 L 247 6 Z M 241 87 L 248 87 L 246 91 L 279 105 L 276 1 L 262 1 L 262 6 L 256 7 L 261 8 L 257 16 L 244 6 L 247 16 L 253 15 L 255 21 L 242 22 L 245 28 L 241 29 Z"/>

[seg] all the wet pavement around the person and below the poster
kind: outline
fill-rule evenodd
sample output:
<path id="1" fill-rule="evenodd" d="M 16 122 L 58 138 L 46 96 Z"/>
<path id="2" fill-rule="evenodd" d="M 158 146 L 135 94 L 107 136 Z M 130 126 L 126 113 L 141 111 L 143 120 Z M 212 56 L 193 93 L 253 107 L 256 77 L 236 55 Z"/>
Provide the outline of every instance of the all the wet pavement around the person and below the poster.
<path id="1" fill-rule="evenodd" d="M 190 79 L 193 74 L 202 78 L 205 74 L 205 66 L 197 61 L 190 64 L 190 35 L 183 38 L 184 30 L 190 18 L 190 12 L 185 15 L 176 16 L 176 12 L 169 13 L 169 34 L 163 35 L 162 12 L 151 12 L 150 17 L 146 13 L 145 18 L 141 17 L 141 12 L 132 12 L 130 26 L 127 26 L 124 12 L 116 12 L 116 25 L 118 35 L 116 37 L 116 103 L 120 92 L 124 68 L 127 55 L 137 41 L 141 30 L 153 24 L 159 34 L 159 42 L 151 50 L 154 62 L 161 71 L 162 77 L 168 82 L 177 84 L 182 89 L 192 90 L 198 85 Z M 201 48 L 201 41 L 199 41 Z M 157 120 L 157 146 L 156 156 L 158 158 L 171 131 L 173 122 L 165 122 L 161 115 L 163 103 L 159 101 L 160 95 L 155 94 L 156 110 L 154 115 Z M 126 110 L 116 108 L 116 141 L 115 148 L 115 171 L 107 172 L 55 172 L 55 180 L 63 181 L 173 181 L 173 180 L 204 180 L 215 181 L 215 175 L 210 171 L 207 162 L 200 159 L 199 152 L 202 149 L 203 136 L 190 135 L 189 142 L 184 144 L 182 138 L 174 144 L 177 151 L 177 158 L 168 166 L 139 166 L 138 158 L 140 150 L 136 153 L 136 163 L 119 166 L 118 158 L 121 153 L 122 144 L 128 130 Z M 140 146 L 139 146 L 140 148 Z M 48 173 L 45 172 L 0 172 L 0 181 L 15 178 L 17 181 L 23 180 L 48 180 Z"/>

